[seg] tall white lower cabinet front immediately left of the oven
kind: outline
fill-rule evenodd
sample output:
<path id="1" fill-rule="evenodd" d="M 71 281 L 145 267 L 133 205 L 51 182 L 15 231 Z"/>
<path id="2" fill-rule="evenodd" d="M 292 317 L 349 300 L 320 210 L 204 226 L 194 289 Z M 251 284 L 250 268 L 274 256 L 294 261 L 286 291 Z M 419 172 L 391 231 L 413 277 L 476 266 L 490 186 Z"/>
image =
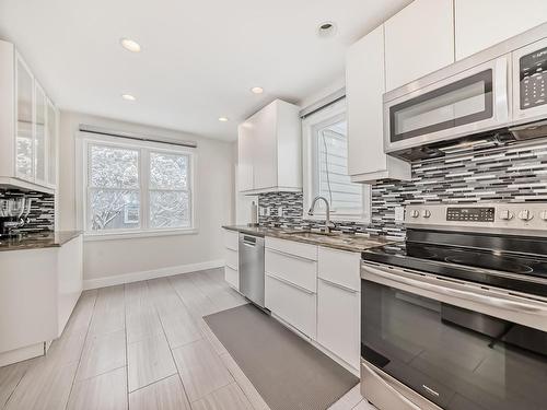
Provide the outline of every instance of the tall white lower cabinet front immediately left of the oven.
<path id="1" fill-rule="evenodd" d="M 360 358 L 361 293 L 319 279 L 317 341 L 356 370 Z"/>

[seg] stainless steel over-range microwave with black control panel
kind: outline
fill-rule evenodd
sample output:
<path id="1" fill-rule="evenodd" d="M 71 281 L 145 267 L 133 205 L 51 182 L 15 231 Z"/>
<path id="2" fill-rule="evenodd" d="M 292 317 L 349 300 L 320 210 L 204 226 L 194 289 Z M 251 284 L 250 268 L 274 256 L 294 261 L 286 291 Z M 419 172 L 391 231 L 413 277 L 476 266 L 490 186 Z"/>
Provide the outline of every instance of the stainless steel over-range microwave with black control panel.
<path id="1" fill-rule="evenodd" d="M 385 152 L 498 129 L 547 136 L 546 82 L 547 23 L 384 94 Z"/>

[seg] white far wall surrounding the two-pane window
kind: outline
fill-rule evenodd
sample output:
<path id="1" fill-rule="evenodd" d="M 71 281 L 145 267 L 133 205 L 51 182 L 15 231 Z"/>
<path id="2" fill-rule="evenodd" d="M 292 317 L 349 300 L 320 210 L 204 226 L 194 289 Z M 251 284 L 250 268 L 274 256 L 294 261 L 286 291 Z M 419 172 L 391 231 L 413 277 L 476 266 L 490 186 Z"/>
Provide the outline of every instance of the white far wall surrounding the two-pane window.
<path id="1" fill-rule="evenodd" d="M 178 138 L 198 143 L 195 207 L 198 233 L 130 239 L 84 242 L 84 280 L 142 271 L 177 271 L 222 263 L 221 225 L 234 220 L 234 153 L 230 142 L 185 134 L 173 130 L 62 112 L 60 120 L 60 230 L 75 223 L 74 137 L 80 124 Z M 172 269 L 173 268 L 173 269 Z M 103 283 L 95 281 L 94 283 Z"/>

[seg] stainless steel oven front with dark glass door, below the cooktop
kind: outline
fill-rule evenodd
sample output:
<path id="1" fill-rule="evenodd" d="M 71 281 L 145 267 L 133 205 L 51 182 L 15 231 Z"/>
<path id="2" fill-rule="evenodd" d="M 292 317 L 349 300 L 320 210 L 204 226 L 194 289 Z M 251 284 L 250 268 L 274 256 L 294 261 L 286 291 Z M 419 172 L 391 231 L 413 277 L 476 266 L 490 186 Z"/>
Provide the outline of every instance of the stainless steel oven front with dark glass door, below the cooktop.
<path id="1" fill-rule="evenodd" d="M 379 399 L 381 409 L 547 403 L 546 302 L 373 263 L 362 266 L 361 295 L 364 396 L 399 402 Z"/>

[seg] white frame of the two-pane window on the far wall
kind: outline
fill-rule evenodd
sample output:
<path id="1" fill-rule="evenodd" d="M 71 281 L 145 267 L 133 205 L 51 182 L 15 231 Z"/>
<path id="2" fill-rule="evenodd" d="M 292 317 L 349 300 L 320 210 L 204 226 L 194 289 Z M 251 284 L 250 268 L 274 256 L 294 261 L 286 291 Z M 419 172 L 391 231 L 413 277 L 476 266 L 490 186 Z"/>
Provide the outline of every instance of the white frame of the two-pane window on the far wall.
<path id="1" fill-rule="evenodd" d="M 93 231 L 89 226 L 88 215 L 90 212 L 90 154 L 92 145 L 112 147 L 118 149 L 137 150 L 138 172 L 139 172 L 139 227 L 133 229 L 109 229 L 103 231 Z M 196 164 L 197 153 L 193 148 L 178 145 L 168 145 L 162 142 L 137 141 L 124 139 L 121 137 L 109 137 L 95 134 L 92 132 L 80 131 L 77 134 L 77 177 L 75 177 L 75 214 L 77 229 L 82 231 L 85 241 L 104 241 L 131 237 L 148 237 L 148 236 L 167 236 L 167 235 L 184 235 L 198 233 L 196 222 L 195 207 L 195 181 L 196 181 Z M 150 192 L 154 189 L 150 188 L 150 154 L 165 153 L 175 155 L 186 155 L 188 157 L 187 168 L 187 192 L 189 206 L 189 226 L 181 227 L 150 227 Z M 130 189 L 129 189 L 130 190 Z M 168 190 L 171 191 L 171 190 Z"/>

